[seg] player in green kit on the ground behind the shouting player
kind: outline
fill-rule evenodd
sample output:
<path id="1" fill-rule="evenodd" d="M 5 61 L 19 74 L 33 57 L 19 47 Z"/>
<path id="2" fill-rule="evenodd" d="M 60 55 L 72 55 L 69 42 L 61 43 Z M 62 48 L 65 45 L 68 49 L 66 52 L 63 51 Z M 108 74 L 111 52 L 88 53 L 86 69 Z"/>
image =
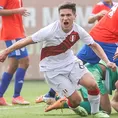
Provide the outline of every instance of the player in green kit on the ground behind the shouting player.
<path id="1" fill-rule="evenodd" d="M 93 74 L 99 89 L 100 89 L 100 107 L 102 110 L 106 111 L 107 113 L 111 113 L 111 106 L 118 111 L 118 86 L 116 83 L 118 82 L 118 68 L 116 72 L 113 72 L 111 69 L 107 68 L 106 64 L 103 61 L 100 61 L 99 64 L 85 64 L 87 69 Z M 107 71 L 107 74 L 106 74 Z M 105 78 L 105 80 L 104 80 Z M 107 82 L 107 84 L 106 84 Z M 115 90 L 115 94 L 113 99 L 110 99 L 109 95 L 112 95 L 112 90 Z M 80 92 L 83 96 L 84 101 L 80 103 L 80 106 L 84 107 L 88 113 L 90 113 L 91 108 L 90 104 L 87 101 L 87 90 L 82 87 L 80 88 Z M 60 108 L 68 108 L 67 106 L 67 99 L 61 98 L 57 100 L 54 104 L 48 106 L 45 111 L 51 111 L 53 109 L 60 109 Z"/>

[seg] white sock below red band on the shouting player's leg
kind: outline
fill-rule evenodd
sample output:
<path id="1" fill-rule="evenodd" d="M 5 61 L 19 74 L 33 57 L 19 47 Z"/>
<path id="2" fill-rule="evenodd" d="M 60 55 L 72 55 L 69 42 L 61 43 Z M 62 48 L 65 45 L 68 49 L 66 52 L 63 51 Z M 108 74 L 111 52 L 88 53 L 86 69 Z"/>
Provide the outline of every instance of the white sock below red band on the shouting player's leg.
<path id="1" fill-rule="evenodd" d="M 100 107 L 100 94 L 99 95 L 88 95 L 88 100 L 91 105 L 91 114 L 99 112 Z"/>

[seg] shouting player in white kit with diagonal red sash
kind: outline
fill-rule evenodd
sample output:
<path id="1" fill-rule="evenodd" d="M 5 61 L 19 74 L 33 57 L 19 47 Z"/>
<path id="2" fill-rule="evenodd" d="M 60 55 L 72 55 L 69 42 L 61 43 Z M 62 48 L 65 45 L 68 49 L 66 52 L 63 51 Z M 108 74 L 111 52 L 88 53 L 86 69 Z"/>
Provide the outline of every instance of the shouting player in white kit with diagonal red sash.
<path id="1" fill-rule="evenodd" d="M 88 90 L 88 100 L 91 104 L 91 114 L 94 117 L 109 117 L 99 112 L 100 94 L 97 83 L 80 59 L 74 55 L 71 47 L 82 40 L 113 71 L 116 65 L 110 62 L 103 49 L 78 24 L 76 18 L 76 4 L 63 3 L 58 8 L 60 20 L 40 29 L 32 36 L 24 38 L 0 53 L 0 61 L 4 62 L 7 55 L 26 45 L 43 42 L 41 50 L 40 71 L 44 72 L 45 79 L 59 96 L 68 98 L 68 105 L 75 113 L 86 116 L 87 112 L 79 106 L 81 97 L 77 88 L 82 85 Z"/>

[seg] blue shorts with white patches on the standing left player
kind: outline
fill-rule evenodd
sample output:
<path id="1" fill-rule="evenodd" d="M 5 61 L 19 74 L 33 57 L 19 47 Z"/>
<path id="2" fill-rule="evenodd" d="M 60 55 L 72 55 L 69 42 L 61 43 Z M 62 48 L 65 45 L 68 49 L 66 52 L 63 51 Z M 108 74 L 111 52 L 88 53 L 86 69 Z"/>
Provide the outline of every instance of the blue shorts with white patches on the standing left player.
<path id="1" fill-rule="evenodd" d="M 18 40 L 21 40 L 21 38 L 17 38 L 15 40 L 5 41 L 5 44 L 7 47 L 10 47 L 14 43 L 16 43 Z M 8 55 L 8 57 L 14 57 L 16 59 L 21 59 L 21 58 L 24 58 L 27 56 L 28 56 L 28 52 L 27 52 L 27 49 L 25 47 L 18 49 L 18 50 L 15 50 Z"/>

